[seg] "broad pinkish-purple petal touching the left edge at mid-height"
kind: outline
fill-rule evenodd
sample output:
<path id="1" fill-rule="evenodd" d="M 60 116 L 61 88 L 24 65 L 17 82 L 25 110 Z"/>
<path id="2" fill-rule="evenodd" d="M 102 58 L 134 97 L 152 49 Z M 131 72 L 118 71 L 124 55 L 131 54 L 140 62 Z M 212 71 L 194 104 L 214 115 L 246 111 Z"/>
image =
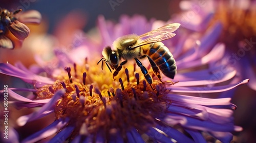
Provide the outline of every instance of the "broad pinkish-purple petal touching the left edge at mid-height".
<path id="1" fill-rule="evenodd" d="M 53 84 L 47 77 L 41 77 L 29 71 L 24 71 L 8 63 L 0 63 L 0 73 L 23 79 L 25 82 L 41 87 L 46 84 Z"/>

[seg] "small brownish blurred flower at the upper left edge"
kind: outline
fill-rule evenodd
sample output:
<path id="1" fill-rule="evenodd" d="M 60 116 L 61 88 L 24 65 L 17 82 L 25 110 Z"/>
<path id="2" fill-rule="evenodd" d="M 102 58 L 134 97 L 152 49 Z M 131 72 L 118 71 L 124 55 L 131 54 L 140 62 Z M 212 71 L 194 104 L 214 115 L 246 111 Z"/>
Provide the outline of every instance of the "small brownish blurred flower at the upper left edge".
<path id="1" fill-rule="evenodd" d="M 24 23 L 40 23 L 41 15 L 38 11 L 30 10 L 20 14 L 21 11 L 22 9 L 14 12 L 0 9 L 0 47 L 14 49 L 15 46 L 20 46 L 30 33 Z"/>

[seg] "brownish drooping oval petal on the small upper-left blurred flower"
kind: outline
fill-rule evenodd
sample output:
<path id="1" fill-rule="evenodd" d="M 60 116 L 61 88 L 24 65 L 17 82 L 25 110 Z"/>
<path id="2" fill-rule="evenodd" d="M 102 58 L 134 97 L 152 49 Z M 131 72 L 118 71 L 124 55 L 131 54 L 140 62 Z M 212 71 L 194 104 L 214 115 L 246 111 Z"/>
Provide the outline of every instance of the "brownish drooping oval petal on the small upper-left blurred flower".
<path id="1" fill-rule="evenodd" d="M 30 33 L 29 28 L 18 20 L 14 20 L 14 22 L 11 23 L 9 30 L 19 40 L 24 40 L 29 36 Z"/>

